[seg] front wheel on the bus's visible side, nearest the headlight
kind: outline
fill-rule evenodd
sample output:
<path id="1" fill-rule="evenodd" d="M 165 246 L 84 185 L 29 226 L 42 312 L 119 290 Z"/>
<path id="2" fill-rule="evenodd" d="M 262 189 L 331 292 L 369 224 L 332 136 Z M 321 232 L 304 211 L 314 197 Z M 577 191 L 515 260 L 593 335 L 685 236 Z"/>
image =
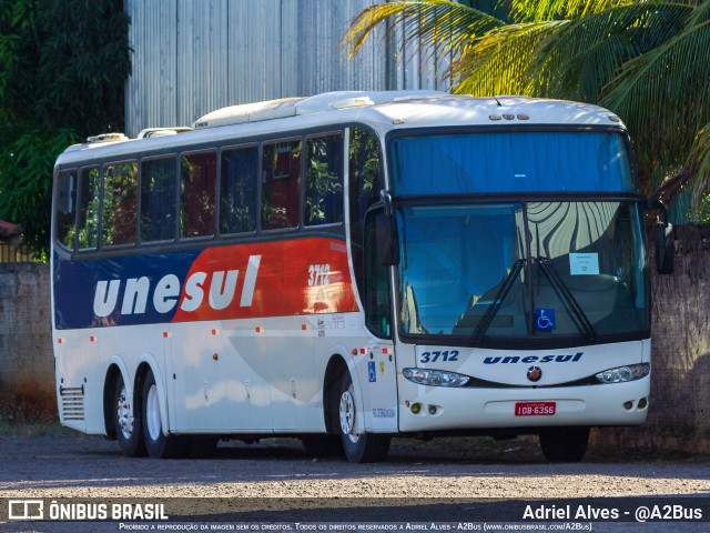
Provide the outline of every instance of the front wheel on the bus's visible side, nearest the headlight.
<path id="1" fill-rule="evenodd" d="M 345 372 L 341 381 L 338 401 L 339 430 L 345 456 L 352 463 L 376 463 L 384 460 L 389 452 L 390 436 L 355 433 L 357 416 L 362 416 L 362 413 L 357 412 L 353 379 Z"/>

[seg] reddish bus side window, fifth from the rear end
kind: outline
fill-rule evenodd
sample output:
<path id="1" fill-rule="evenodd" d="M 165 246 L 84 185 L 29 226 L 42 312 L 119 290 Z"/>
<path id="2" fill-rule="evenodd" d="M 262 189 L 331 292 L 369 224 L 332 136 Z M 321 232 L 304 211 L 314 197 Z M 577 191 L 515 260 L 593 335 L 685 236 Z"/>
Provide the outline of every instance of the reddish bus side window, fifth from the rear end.
<path id="1" fill-rule="evenodd" d="M 214 234 L 216 153 L 194 153 L 180 158 L 180 237 Z"/>

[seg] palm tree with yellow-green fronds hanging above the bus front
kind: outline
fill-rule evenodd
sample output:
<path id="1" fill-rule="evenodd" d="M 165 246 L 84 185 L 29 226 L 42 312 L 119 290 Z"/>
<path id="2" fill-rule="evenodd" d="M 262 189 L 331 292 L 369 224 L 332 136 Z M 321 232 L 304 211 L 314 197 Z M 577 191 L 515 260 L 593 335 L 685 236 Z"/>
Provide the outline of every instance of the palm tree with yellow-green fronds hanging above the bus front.
<path id="1" fill-rule="evenodd" d="M 599 103 L 623 118 L 645 192 L 710 188 L 710 0 L 509 0 L 513 22 L 450 0 L 374 4 L 349 54 L 390 20 L 404 47 L 445 51 L 453 92 Z"/>

